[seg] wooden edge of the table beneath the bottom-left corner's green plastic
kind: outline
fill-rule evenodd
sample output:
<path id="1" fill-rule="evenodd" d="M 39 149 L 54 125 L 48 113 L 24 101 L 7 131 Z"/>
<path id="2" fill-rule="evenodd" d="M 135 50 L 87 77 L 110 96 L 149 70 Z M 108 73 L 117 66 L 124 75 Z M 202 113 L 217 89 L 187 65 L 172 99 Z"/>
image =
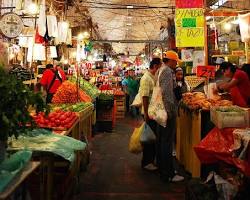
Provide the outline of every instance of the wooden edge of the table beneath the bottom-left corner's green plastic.
<path id="1" fill-rule="evenodd" d="M 31 161 L 27 166 L 21 171 L 21 173 L 14 178 L 7 188 L 0 193 L 0 200 L 8 199 L 16 189 L 21 186 L 25 180 L 40 166 L 39 161 Z M 25 194 L 24 194 L 25 195 Z M 25 199 L 25 196 L 22 198 Z"/>

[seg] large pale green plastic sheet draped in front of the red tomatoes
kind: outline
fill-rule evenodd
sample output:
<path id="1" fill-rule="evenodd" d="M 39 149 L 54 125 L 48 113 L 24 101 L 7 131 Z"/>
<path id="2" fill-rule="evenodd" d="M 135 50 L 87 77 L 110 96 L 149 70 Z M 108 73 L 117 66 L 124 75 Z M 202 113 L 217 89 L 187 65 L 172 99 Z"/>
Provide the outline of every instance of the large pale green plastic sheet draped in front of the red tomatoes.
<path id="1" fill-rule="evenodd" d="M 8 148 L 51 152 L 73 162 L 75 151 L 84 150 L 86 144 L 68 136 L 53 134 L 45 129 L 34 129 L 27 134 L 20 135 L 18 139 L 10 139 Z"/>

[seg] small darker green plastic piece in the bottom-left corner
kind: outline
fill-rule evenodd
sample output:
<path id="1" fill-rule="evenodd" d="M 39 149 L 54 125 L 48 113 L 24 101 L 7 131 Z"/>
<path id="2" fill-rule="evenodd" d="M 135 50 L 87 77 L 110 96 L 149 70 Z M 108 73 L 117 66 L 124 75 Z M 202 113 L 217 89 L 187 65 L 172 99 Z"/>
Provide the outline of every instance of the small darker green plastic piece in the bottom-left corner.
<path id="1" fill-rule="evenodd" d="M 31 159 L 31 151 L 18 151 L 0 164 L 0 192 L 11 183 Z"/>

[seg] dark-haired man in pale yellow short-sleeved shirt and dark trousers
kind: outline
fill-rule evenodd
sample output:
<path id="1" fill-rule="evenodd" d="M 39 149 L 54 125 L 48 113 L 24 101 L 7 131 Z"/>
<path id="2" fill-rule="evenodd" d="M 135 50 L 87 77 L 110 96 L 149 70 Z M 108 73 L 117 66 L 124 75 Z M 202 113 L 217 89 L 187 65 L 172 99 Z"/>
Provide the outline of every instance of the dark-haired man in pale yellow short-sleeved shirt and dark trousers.
<path id="1" fill-rule="evenodd" d="M 154 58 L 150 62 L 149 70 L 145 72 L 140 81 L 139 95 L 142 98 L 142 115 L 144 121 L 149 125 L 154 134 L 157 137 L 157 123 L 148 116 L 148 106 L 150 99 L 152 97 L 153 88 L 155 86 L 155 73 L 161 67 L 161 59 Z M 156 143 L 145 143 L 143 144 L 143 154 L 141 166 L 146 170 L 156 170 L 155 166 L 155 157 L 156 157 Z"/>

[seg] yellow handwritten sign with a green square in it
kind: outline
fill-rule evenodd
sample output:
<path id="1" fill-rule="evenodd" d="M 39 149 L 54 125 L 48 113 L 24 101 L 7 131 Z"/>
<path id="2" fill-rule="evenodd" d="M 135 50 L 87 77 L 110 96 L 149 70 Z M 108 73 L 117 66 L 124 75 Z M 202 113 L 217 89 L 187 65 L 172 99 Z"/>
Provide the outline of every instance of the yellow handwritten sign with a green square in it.
<path id="1" fill-rule="evenodd" d="M 204 9 L 176 9 L 175 19 L 177 47 L 204 46 Z"/>

